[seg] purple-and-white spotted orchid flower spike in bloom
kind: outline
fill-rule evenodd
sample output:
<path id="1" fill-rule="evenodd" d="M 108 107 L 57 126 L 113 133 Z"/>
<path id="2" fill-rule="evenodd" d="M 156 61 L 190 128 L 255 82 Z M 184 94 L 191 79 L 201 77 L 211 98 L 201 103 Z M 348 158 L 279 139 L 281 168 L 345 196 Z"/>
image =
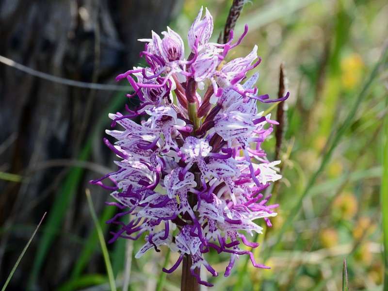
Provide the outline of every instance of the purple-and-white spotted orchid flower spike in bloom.
<path id="1" fill-rule="evenodd" d="M 258 218 L 271 226 L 276 205 L 267 205 L 269 197 L 262 192 L 281 178 L 274 169 L 280 161 L 269 162 L 261 149 L 276 122 L 258 112 L 257 100 L 287 96 L 268 100 L 255 87 L 258 73 L 246 79 L 260 63 L 257 46 L 228 61 L 227 53 L 240 44 L 247 27 L 235 43 L 233 32 L 224 45 L 210 43 L 212 17 L 207 9 L 203 18 L 202 13 L 201 8 L 188 33 L 187 59 L 181 37 L 170 28 L 163 38 L 152 32 L 152 38 L 141 39 L 147 66 L 134 67 L 116 81 L 126 78 L 135 90 L 129 97 L 137 95 L 142 104 L 127 107 L 127 115 L 110 114 L 112 126 L 124 129 L 107 130 L 117 139 L 114 145 L 105 139 L 119 158 L 118 170 L 92 183 L 113 190 L 118 202 L 111 204 L 122 210 L 108 221 L 118 227 L 110 242 L 146 233 L 136 258 L 166 245 L 180 256 L 164 272 L 176 270 L 186 256 L 197 282 L 212 286 L 194 272 L 203 265 L 218 275 L 204 258 L 211 249 L 230 254 L 225 276 L 240 255 L 250 256 L 255 267 L 269 268 L 240 244 L 258 246 L 245 237 L 261 233 L 254 223 Z M 141 125 L 131 120 L 139 115 L 148 116 Z M 102 184 L 105 178 L 115 186 Z M 129 213 L 133 219 L 125 224 L 120 218 Z"/>

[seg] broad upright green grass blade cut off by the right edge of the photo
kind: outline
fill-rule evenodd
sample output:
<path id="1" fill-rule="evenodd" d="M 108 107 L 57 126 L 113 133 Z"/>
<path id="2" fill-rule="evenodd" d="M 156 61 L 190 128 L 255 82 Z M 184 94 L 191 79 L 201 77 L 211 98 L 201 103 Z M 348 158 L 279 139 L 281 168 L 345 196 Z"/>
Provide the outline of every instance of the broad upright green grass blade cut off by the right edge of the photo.
<path id="1" fill-rule="evenodd" d="M 386 108 L 388 108 L 388 96 L 386 99 Z M 384 290 L 388 290 L 388 114 L 384 117 L 383 132 L 383 173 L 381 176 L 381 215 L 383 228 L 384 244 Z"/>

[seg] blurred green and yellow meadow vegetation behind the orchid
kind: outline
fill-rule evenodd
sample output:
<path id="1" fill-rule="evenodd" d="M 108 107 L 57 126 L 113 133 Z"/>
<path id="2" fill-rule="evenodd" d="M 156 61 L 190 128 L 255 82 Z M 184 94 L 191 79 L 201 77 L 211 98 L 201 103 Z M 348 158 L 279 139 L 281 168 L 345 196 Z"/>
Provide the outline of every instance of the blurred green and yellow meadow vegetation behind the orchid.
<path id="1" fill-rule="evenodd" d="M 203 5 L 213 16 L 216 42 L 230 4 L 186 0 L 170 27 L 184 39 Z M 344 258 L 350 290 L 383 290 L 379 191 L 387 113 L 387 57 L 381 61 L 388 41 L 387 1 L 253 0 L 244 6 L 236 38 L 245 23 L 248 34 L 228 57 L 244 56 L 259 46 L 259 93 L 277 96 L 279 67 L 285 65 L 290 97 L 280 155 L 284 178 L 272 198 L 279 204 L 278 215 L 265 238 L 259 236 L 261 246 L 255 252 L 272 269 L 256 269 L 241 257 L 226 278 L 227 256 L 210 254 L 209 262 L 220 273 L 209 278 L 213 290 L 341 290 Z M 258 106 L 275 116 L 271 105 Z M 275 138 L 264 146 L 273 159 Z M 94 187 L 89 187 L 92 196 Z M 101 222 L 115 211 L 107 209 Z M 80 241 L 90 252 L 100 252 L 97 235 Z M 119 240 L 109 246 L 118 289 L 129 276 L 123 272 L 126 247 L 133 250 L 131 257 L 142 244 Z M 166 257 L 162 248 L 127 261 L 130 290 L 179 290 L 179 271 L 162 275 L 163 264 L 171 266 L 175 260 L 176 254 Z M 74 289 L 109 289 L 105 274 L 80 272 L 71 279 Z M 68 290 L 69 282 L 59 290 Z"/>

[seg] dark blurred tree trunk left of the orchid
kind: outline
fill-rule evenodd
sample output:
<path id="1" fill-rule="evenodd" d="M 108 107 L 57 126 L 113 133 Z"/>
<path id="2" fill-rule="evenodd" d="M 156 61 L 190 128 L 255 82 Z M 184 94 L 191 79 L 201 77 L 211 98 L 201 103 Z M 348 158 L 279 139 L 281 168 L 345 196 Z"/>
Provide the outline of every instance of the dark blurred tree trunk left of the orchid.
<path id="1" fill-rule="evenodd" d="M 66 79 L 114 83 L 118 73 L 138 63 L 144 43 L 137 39 L 149 38 L 151 30 L 165 30 L 180 4 L 181 0 L 2 0 L 0 55 Z M 0 179 L 0 226 L 4 226 L 0 285 L 31 237 L 32 226 L 45 211 L 50 213 L 69 170 L 66 162 L 77 159 L 113 93 L 71 87 L 0 65 L 0 172 L 23 176 L 22 183 Z M 112 167 L 101 138 L 94 142 L 89 162 Z M 36 290 L 52 290 L 68 279 L 81 246 L 65 236 L 86 238 L 94 228 L 85 188 L 88 180 L 100 176 L 96 171 L 83 175 L 35 282 Z M 100 213 L 108 193 L 97 188 L 92 193 Z M 10 290 L 26 288 L 38 243 L 39 233 Z M 86 272 L 99 270 L 103 267 L 96 256 Z"/>

